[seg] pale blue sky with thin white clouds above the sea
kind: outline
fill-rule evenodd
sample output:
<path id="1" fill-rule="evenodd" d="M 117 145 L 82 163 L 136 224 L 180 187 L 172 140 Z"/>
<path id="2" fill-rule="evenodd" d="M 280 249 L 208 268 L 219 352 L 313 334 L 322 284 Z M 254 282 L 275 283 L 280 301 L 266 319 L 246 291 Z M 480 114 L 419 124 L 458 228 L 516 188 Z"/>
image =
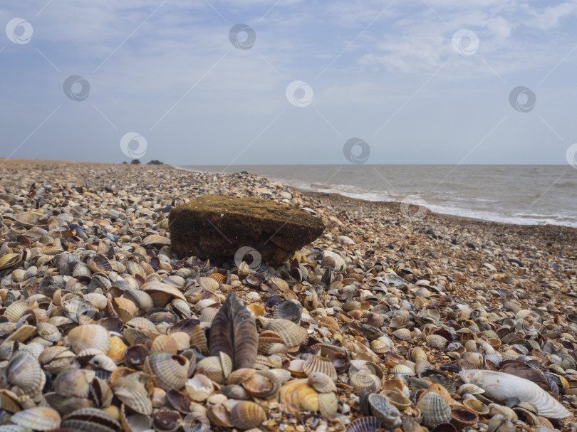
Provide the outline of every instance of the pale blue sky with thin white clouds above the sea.
<path id="1" fill-rule="evenodd" d="M 566 164 L 576 20 L 577 0 L 5 0 L 0 156 Z"/>

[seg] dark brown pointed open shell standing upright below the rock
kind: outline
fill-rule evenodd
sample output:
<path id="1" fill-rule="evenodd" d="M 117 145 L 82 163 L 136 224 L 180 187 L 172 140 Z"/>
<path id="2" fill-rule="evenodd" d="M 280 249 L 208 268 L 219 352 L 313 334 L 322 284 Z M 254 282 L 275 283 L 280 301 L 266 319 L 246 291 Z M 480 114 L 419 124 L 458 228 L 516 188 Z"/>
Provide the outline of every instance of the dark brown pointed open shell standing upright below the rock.
<path id="1" fill-rule="evenodd" d="M 259 347 L 254 317 L 236 294 L 229 293 L 209 330 L 209 354 L 232 359 L 233 369 L 252 368 Z"/>

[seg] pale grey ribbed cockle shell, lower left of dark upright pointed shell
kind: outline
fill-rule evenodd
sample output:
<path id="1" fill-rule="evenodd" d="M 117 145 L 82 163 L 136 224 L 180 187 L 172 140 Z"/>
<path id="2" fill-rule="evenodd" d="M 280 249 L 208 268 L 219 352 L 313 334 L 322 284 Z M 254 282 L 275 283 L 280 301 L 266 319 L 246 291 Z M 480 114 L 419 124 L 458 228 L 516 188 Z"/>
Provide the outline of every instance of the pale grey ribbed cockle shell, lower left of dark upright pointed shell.
<path id="1" fill-rule="evenodd" d="M 188 359 L 165 352 L 150 354 L 143 371 L 163 390 L 182 389 L 188 379 Z"/>

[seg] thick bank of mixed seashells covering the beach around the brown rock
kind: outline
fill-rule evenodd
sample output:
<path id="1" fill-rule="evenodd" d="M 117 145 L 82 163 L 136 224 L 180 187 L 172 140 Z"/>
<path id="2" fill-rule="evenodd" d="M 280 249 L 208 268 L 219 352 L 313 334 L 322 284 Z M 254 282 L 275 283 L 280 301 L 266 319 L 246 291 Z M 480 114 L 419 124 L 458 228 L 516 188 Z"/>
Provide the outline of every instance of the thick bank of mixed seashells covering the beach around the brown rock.
<path id="1" fill-rule="evenodd" d="M 572 250 L 459 241 L 253 174 L 0 174 L 0 432 L 575 427 Z M 328 229 L 276 268 L 172 255 L 170 208 L 215 193 Z"/>

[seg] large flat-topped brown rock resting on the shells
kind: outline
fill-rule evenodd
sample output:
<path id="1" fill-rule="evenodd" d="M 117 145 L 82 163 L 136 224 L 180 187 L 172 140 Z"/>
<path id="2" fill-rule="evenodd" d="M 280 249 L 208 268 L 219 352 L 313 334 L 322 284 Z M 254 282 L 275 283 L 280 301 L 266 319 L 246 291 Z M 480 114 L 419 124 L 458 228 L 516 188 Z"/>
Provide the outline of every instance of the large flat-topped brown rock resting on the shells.
<path id="1" fill-rule="evenodd" d="M 170 249 L 178 256 L 233 257 L 251 246 L 280 263 L 323 233 L 320 218 L 267 199 L 207 195 L 170 210 Z"/>

